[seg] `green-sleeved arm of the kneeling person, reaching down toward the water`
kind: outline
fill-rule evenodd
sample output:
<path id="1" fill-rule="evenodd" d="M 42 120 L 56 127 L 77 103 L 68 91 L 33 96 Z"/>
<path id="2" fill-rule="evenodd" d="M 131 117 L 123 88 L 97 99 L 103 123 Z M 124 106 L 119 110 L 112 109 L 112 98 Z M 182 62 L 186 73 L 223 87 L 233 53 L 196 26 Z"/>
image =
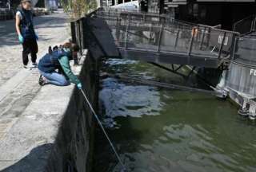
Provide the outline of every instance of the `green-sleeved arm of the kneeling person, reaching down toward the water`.
<path id="1" fill-rule="evenodd" d="M 66 76 L 68 76 L 68 78 L 70 79 L 70 82 L 74 84 L 80 84 L 81 82 L 80 80 L 78 80 L 78 77 L 75 76 L 74 73 L 71 71 L 69 58 L 64 56 L 58 59 L 58 61 L 61 64 Z"/>

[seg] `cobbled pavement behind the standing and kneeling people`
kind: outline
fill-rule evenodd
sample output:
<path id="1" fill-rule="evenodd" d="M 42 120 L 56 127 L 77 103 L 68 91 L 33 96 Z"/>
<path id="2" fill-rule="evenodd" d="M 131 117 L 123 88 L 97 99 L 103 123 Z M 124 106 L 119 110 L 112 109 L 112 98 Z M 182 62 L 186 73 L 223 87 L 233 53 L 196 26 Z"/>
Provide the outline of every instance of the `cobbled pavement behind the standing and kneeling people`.
<path id="1" fill-rule="evenodd" d="M 66 14 L 57 13 L 34 18 L 38 33 L 38 57 L 51 44 L 67 41 L 70 32 Z M 0 86 L 22 69 L 22 45 L 14 28 L 14 20 L 0 22 Z"/>

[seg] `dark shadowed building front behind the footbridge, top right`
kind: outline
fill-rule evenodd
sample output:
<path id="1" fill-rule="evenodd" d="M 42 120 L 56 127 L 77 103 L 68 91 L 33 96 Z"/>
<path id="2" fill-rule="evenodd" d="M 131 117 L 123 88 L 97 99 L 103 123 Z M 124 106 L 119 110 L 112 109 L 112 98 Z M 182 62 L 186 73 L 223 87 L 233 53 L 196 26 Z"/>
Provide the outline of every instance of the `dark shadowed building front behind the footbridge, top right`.
<path id="1" fill-rule="evenodd" d="M 255 0 L 140 0 L 145 12 L 232 29 L 234 22 L 256 13 Z M 146 5 L 145 5 L 146 4 Z"/>

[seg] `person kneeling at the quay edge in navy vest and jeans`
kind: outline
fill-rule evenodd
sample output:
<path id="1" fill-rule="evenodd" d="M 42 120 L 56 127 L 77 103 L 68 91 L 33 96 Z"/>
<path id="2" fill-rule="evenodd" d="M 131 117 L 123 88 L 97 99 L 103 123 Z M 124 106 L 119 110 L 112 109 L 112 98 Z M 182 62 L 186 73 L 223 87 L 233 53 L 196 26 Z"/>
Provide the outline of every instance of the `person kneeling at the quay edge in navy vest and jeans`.
<path id="1" fill-rule="evenodd" d="M 58 86 L 69 85 L 70 82 L 82 89 L 82 84 L 78 77 L 74 75 L 70 68 L 70 61 L 78 53 L 79 46 L 70 42 L 54 50 L 49 50 L 39 61 L 38 70 L 41 74 L 39 84 L 54 84 Z"/>

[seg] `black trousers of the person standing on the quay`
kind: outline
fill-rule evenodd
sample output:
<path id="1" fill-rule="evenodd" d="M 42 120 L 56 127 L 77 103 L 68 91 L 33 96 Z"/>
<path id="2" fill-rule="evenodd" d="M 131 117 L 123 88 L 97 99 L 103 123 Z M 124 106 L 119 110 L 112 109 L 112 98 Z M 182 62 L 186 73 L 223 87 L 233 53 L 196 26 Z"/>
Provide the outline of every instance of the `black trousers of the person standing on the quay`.
<path id="1" fill-rule="evenodd" d="M 37 61 L 38 43 L 35 39 L 25 39 L 23 44 L 22 60 L 23 65 L 29 63 L 29 54 L 31 56 L 32 63 Z"/>

